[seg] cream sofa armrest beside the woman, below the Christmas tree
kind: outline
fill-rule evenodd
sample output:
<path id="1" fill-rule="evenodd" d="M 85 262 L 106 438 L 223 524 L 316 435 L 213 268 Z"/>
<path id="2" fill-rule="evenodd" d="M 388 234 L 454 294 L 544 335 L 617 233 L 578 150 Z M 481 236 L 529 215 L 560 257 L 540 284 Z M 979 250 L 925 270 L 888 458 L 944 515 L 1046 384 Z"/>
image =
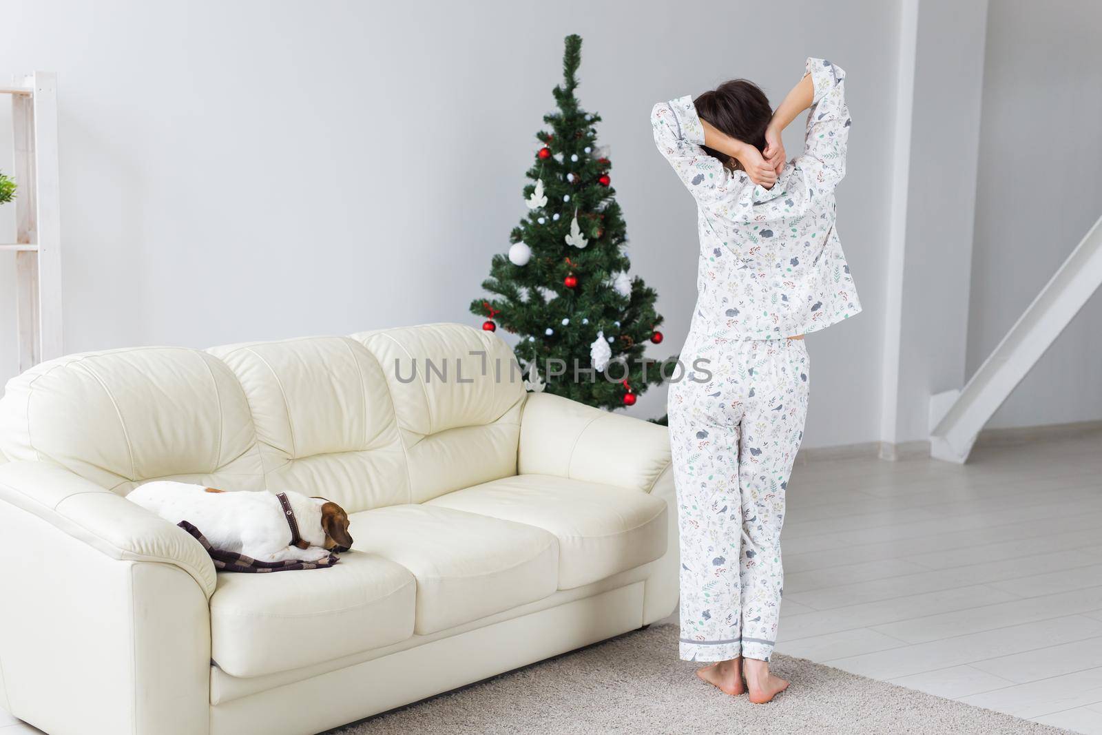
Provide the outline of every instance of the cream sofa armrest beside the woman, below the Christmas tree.
<path id="1" fill-rule="evenodd" d="M 650 493 L 670 466 L 666 426 L 561 396 L 530 393 L 520 418 L 517 472 Z"/>

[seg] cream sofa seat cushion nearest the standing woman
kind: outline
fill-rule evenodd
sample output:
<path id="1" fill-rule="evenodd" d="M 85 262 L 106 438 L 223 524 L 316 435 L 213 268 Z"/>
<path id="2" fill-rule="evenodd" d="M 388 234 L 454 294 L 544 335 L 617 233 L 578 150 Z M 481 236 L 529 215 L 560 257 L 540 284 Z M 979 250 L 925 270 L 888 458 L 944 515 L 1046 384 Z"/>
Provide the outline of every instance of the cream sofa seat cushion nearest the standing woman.
<path id="1" fill-rule="evenodd" d="M 580 587 L 666 553 L 666 501 L 640 490 L 517 475 L 449 493 L 430 506 L 545 529 L 559 539 L 559 588 Z"/>

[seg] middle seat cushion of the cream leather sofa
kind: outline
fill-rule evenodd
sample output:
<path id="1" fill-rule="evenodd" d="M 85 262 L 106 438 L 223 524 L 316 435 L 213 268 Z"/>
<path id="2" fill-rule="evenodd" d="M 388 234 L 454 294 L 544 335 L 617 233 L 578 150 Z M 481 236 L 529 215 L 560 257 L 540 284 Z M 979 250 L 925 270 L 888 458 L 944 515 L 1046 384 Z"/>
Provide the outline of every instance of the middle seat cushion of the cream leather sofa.
<path id="1" fill-rule="evenodd" d="M 417 577 L 420 635 L 469 623 L 551 595 L 559 544 L 532 526 L 429 505 L 353 514 L 354 548 L 401 564 Z"/>

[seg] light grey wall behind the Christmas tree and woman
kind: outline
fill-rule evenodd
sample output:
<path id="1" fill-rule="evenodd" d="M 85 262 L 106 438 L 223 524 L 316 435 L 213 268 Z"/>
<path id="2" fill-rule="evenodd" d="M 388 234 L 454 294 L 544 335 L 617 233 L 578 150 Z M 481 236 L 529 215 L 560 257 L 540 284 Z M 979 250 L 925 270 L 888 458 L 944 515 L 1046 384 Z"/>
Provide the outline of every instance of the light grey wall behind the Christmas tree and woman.
<path id="1" fill-rule="evenodd" d="M 839 229 L 865 314 L 809 338 L 806 444 L 873 441 L 898 9 L 763 8 L 6 3 L 0 73 L 58 73 L 66 350 L 477 324 L 467 303 L 525 212 L 533 133 L 562 37 L 577 32 L 580 95 L 605 118 L 634 271 L 667 317 L 651 354 L 665 356 L 688 331 L 698 246 L 693 204 L 653 149 L 651 105 L 732 76 L 779 101 L 806 56 L 825 56 L 850 75 Z M 0 257 L 0 380 L 17 371 L 11 260 Z M 652 391 L 634 412 L 663 404 Z"/>

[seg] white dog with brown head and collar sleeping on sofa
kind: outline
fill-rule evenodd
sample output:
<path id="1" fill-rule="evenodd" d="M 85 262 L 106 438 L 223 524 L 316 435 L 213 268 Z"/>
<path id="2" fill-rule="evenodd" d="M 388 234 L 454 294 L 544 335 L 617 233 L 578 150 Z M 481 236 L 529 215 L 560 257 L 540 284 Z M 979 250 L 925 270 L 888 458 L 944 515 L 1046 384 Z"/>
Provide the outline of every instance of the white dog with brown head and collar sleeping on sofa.
<path id="1" fill-rule="evenodd" d="M 263 562 L 316 562 L 329 550 L 348 551 L 348 514 L 325 498 L 267 490 L 227 493 L 158 480 L 127 498 L 161 518 L 198 528 L 210 545 Z"/>

